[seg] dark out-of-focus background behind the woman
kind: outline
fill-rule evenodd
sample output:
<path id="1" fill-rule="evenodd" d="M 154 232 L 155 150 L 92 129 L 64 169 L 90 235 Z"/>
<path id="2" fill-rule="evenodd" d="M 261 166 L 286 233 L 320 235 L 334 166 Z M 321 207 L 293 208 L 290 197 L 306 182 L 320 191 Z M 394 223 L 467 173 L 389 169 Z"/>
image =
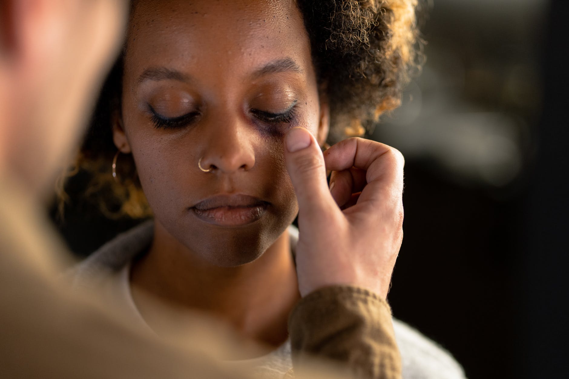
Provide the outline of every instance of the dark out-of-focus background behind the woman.
<path id="1" fill-rule="evenodd" d="M 394 316 L 469 378 L 569 377 L 567 2 L 428 9 L 423 72 L 369 136 L 406 157 Z M 78 256 L 136 223 L 68 207 Z"/>

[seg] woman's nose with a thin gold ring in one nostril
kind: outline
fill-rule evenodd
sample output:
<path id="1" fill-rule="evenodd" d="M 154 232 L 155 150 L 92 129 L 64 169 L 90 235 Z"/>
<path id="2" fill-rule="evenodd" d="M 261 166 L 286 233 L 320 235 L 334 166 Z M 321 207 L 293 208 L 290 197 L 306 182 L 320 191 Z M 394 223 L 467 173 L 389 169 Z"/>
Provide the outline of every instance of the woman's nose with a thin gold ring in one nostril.
<path id="1" fill-rule="evenodd" d="M 221 116 L 221 115 L 220 115 Z M 254 135 L 238 117 L 215 117 L 203 124 L 202 170 L 232 174 L 255 166 Z"/>

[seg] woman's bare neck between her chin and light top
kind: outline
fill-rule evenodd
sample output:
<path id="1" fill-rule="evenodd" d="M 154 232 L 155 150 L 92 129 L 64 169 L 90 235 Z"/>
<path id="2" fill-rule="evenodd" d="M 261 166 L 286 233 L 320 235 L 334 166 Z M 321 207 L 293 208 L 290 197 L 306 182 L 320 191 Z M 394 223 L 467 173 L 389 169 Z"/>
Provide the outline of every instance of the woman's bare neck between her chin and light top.
<path id="1" fill-rule="evenodd" d="M 131 274 L 134 301 L 151 328 L 159 332 L 160 318 L 138 291 L 177 308 L 214 314 L 262 343 L 286 340 L 288 313 L 300 297 L 287 230 L 261 257 L 237 267 L 205 262 L 158 221 L 154 231 L 149 252 Z"/>

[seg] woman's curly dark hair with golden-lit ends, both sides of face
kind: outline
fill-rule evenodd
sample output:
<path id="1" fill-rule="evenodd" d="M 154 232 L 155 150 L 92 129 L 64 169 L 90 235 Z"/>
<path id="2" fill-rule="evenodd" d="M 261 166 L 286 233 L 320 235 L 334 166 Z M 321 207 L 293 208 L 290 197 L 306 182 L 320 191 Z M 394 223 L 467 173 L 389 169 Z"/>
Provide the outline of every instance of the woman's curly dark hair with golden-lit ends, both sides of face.
<path id="1" fill-rule="evenodd" d="M 404 86 L 420 69 L 418 0 L 296 0 L 311 42 L 321 95 L 328 98 L 328 140 L 364 135 L 382 113 L 399 106 Z M 130 156 L 120 156 L 122 181 L 110 168 L 117 149 L 111 114 L 121 99 L 122 57 L 109 74 L 76 167 L 90 174 L 86 196 L 105 216 L 151 215 Z M 64 196 L 60 196 L 64 199 Z M 63 202 L 60 201 L 60 211 Z"/>

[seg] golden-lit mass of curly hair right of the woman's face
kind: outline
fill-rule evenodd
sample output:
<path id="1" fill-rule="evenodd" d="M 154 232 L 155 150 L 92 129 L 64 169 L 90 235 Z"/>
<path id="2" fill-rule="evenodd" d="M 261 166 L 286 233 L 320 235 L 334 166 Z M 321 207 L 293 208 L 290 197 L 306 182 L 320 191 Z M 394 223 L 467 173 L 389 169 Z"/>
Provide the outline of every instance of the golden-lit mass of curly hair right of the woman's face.
<path id="1" fill-rule="evenodd" d="M 299 0 L 331 109 L 329 139 L 360 136 L 401 103 L 421 55 L 417 0 Z"/>

